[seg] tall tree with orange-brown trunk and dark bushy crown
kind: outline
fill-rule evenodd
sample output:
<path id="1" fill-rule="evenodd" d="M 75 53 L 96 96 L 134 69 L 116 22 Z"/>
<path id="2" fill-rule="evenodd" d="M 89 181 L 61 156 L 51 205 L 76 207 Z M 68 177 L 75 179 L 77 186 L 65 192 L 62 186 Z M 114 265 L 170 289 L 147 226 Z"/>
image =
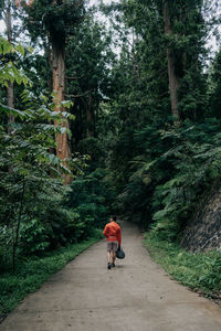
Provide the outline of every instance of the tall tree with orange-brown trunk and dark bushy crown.
<path id="1" fill-rule="evenodd" d="M 42 32 L 44 36 L 49 35 L 53 54 L 54 111 L 62 111 L 62 103 L 65 99 L 65 43 L 84 15 L 84 0 L 34 0 L 21 4 L 28 13 L 24 21 L 32 39 L 42 35 Z M 63 127 L 69 128 L 67 120 L 63 121 Z M 56 156 L 63 161 L 71 157 L 66 132 L 56 135 Z M 70 183 L 70 180 L 69 177 L 65 178 L 66 183 Z"/>

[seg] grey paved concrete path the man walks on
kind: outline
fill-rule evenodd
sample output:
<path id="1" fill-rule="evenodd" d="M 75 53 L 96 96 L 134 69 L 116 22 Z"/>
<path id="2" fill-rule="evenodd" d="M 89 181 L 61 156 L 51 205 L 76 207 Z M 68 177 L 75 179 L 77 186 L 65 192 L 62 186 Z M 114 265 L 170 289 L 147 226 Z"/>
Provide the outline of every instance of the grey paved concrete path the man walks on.
<path id="1" fill-rule="evenodd" d="M 123 224 L 126 258 L 106 269 L 94 245 L 9 314 L 0 331 L 221 331 L 221 309 L 170 280 Z"/>

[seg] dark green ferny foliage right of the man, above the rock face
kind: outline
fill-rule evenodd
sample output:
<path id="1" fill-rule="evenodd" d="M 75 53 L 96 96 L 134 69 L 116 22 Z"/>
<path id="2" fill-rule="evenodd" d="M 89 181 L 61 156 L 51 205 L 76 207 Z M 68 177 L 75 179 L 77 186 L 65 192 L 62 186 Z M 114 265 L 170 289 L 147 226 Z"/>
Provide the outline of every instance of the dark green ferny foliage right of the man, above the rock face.
<path id="1" fill-rule="evenodd" d="M 176 239 L 201 199 L 220 180 L 220 124 L 155 125 L 135 134 L 139 156 L 130 162 L 130 180 L 119 195 L 128 217 L 162 238 Z M 134 202 L 131 204 L 131 202 Z"/>

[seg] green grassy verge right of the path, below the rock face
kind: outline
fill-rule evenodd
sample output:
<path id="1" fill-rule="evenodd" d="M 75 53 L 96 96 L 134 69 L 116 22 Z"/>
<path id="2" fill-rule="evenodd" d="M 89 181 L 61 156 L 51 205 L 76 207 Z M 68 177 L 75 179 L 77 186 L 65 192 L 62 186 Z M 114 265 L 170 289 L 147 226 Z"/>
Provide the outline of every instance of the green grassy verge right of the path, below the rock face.
<path id="1" fill-rule="evenodd" d="M 146 233 L 145 246 L 154 260 L 182 285 L 208 297 L 221 296 L 221 252 L 192 254 Z"/>

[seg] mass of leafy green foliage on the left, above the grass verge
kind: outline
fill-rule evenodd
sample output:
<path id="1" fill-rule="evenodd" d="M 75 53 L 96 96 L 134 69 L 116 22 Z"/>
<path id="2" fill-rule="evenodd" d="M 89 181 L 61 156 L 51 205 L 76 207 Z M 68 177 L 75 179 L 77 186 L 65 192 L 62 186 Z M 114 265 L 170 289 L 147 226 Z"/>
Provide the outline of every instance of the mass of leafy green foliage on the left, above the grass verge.
<path id="1" fill-rule="evenodd" d="M 10 46 L 2 50 L 4 55 L 13 49 Z M 15 79 L 18 84 L 25 83 L 27 78 L 21 82 L 17 79 L 18 73 L 14 71 L 12 78 L 4 71 L 1 74 L 7 82 Z M 63 120 L 73 117 L 65 111 L 54 111 L 53 95 L 34 97 L 30 92 L 23 90 L 20 99 L 22 110 L 0 104 L 0 226 L 3 232 L 3 253 L 0 257 L 2 265 L 8 265 L 12 259 L 13 269 L 17 248 L 20 254 L 40 254 L 77 239 L 77 235 L 74 235 L 80 221 L 75 224 L 72 213 L 62 205 L 69 190 L 62 183 L 62 175 L 73 175 L 72 171 L 77 175 L 85 164 L 84 157 L 75 157 L 67 163 L 67 168 L 65 160 L 61 161 L 52 152 L 56 147 L 54 136 L 66 131 L 70 134 L 62 126 Z M 63 107 L 70 106 L 71 102 L 63 103 Z M 13 116 L 14 121 L 8 125 L 6 116 Z M 56 126 L 52 124 L 54 121 Z M 52 212 L 61 216 L 60 227 L 62 222 L 65 224 L 63 232 L 59 234 L 53 225 Z"/>

